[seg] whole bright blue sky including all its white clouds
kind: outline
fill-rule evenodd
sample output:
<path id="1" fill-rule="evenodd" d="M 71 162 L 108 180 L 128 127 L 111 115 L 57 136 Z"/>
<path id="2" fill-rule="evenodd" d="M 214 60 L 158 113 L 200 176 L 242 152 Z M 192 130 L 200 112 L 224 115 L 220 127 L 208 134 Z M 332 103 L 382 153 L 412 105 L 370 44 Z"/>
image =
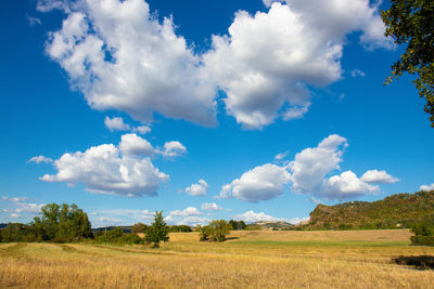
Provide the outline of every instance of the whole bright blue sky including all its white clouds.
<path id="1" fill-rule="evenodd" d="M 304 220 L 434 183 L 368 0 L 1 1 L 0 222 Z"/>

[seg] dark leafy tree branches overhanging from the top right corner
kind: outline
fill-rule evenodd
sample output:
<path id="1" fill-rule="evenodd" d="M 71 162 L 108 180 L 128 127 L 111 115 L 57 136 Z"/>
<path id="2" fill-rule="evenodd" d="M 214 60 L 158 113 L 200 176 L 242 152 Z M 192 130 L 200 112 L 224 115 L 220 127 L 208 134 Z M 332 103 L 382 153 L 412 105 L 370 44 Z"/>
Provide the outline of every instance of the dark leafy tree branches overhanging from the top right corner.
<path id="1" fill-rule="evenodd" d="M 407 49 L 393 64 L 392 76 L 385 83 L 404 71 L 417 75 L 413 83 L 420 97 L 426 101 L 424 110 L 434 128 L 434 1 L 391 0 L 391 3 L 388 10 L 382 11 L 385 35 L 393 37 L 396 44 L 407 44 Z"/>

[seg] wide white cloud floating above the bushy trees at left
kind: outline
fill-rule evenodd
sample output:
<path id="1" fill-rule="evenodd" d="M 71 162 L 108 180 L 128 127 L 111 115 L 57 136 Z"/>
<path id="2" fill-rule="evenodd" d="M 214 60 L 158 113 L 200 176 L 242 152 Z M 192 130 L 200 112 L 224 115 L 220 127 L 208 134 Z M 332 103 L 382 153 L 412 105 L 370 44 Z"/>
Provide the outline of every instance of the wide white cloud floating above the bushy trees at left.
<path id="1" fill-rule="evenodd" d="M 155 196 L 159 184 L 169 176 L 153 166 L 146 156 L 148 141 L 136 134 L 123 135 L 118 146 L 103 144 L 86 152 L 64 154 L 54 161 L 56 174 L 46 174 L 46 182 L 84 183 L 89 192 L 128 197 Z"/>

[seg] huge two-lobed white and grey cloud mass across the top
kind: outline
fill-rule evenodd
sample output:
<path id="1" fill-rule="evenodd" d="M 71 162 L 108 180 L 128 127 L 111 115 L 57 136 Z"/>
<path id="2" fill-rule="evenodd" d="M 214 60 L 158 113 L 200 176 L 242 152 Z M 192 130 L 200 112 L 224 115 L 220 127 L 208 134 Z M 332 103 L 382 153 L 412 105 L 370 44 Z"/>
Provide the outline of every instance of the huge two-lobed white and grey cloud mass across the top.
<path id="1" fill-rule="evenodd" d="M 301 118 L 311 103 L 309 87 L 341 78 L 346 35 L 361 31 L 368 49 L 392 47 L 369 0 L 264 2 L 267 12 L 237 12 L 228 35 L 213 36 L 202 54 L 143 0 L 39 0 L 38 9 L 65 12 L 47 52 L 89 105 L 143 122 L 158 113 L 213 126 L 218 90 L 244 128 Z"/>

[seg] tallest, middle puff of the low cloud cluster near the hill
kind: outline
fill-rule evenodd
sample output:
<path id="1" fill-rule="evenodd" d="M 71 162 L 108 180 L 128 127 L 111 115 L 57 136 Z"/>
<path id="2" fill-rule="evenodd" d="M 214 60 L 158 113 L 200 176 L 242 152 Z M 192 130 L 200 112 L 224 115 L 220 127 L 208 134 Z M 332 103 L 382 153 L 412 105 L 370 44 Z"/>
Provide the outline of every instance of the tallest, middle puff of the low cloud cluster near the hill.
<path id="1" fill-rule="evenodd" d="M 292 189 L 297 193 L 315 193 L 320 189 L 324 176 L 340 169 L 343 149 L 347 141 L 337 134 L 322 140 L 317 147 L 308 147 L 295 155 L 290 163 Z"/>

